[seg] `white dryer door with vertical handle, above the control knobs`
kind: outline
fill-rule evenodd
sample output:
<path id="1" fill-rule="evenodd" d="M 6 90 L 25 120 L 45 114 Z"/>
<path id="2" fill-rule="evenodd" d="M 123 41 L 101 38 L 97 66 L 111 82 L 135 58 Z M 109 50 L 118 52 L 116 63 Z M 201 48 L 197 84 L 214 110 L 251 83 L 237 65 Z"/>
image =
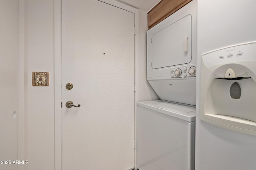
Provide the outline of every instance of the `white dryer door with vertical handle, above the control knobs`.
<path id="1" fill-rule="evenodd" d="M 191 15 L 152 35 L 152 68 L 163 68 L 191 61 Z"/>

